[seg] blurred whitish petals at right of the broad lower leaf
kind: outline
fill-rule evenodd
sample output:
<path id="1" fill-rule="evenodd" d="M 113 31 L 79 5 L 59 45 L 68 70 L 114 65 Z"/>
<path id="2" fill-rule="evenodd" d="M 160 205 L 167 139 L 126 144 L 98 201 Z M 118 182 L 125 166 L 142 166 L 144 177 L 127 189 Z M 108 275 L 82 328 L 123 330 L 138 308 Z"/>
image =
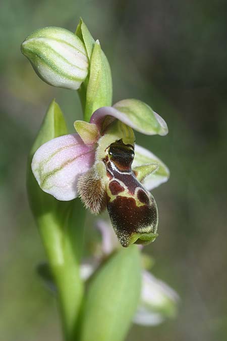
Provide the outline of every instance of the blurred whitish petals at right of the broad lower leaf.
<path id="1" fill-rule="evenodd" d="M 179 296 L 175 290 L 151 273 L 143 271 L 140 304 L 134 322 L 156 325 L 167 317 L 175 317 Z"/>

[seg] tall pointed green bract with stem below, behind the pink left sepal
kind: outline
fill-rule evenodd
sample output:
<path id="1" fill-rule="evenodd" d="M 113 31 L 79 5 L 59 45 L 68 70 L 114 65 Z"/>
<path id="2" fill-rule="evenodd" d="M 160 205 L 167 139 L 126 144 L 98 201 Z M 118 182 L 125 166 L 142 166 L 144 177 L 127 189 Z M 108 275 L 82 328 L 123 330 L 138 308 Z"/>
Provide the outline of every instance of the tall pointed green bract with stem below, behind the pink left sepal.
<path id="1" fill-rule="evenodd" d="M 29 154 L 27 186 L 30 206 L 57 289 L 64 334 L 68 341 L 74 339 L 83 297 L 79 259 L 83 246 L 85 210 L 80 200 L 58 201 L 43 192 L 31 170 L 32 157 L 40 145 L 64 134 L 67 134 L 64 116 L 53 100 Z"/>

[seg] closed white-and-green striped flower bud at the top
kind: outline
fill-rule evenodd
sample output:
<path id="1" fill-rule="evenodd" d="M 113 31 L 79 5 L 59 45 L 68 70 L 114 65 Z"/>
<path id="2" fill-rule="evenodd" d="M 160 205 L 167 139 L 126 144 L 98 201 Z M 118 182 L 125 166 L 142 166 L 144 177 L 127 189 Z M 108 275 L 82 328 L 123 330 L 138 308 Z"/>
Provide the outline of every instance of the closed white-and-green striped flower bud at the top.
<path id="1" fill-rule="evenodd" d="M 21 45 L 37 75 L 44 82 L 78 89 L 88 73 L 88 57 L 83 42 L 60 27 L 46 27 L 29 35 Z"/>

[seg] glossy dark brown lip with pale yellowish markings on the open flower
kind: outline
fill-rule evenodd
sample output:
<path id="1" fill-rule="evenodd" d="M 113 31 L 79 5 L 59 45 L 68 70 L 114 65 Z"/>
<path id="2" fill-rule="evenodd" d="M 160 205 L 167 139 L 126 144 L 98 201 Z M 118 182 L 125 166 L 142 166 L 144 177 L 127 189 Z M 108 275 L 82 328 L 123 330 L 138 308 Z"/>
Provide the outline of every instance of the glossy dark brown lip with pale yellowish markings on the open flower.
<path id="1" fill-rule="evenodd" d="M 122 140 L 111 143 L 103 160 L 106 166 L 107 210 L 122 246 L 148 243 L 157 236 L 158 213 L 150 192 L 137 180 L 131 166 L 134 147 Z"/>

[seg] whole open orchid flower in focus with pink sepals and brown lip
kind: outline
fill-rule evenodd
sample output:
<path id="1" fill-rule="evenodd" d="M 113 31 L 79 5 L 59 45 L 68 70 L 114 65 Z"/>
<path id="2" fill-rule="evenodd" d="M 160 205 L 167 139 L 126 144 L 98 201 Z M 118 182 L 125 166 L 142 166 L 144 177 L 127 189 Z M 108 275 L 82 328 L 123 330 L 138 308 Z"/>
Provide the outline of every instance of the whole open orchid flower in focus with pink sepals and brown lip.
<path id="1" fill-rule="evenodd" d="M 135 144 L 132 128 L 165 135 L 165 121 L 145 103 L 129 99 L 101 107 L 90 122 L 76 121 L 77 133 L 43 144 L 32 171 L 45 192 L 56 199 L 81 198 L 94 214 L 107 207 L 123 247 L 148 243 L 157 236 L 158 213 L 149 192 L 167 181 L 167 167 Z"/>

